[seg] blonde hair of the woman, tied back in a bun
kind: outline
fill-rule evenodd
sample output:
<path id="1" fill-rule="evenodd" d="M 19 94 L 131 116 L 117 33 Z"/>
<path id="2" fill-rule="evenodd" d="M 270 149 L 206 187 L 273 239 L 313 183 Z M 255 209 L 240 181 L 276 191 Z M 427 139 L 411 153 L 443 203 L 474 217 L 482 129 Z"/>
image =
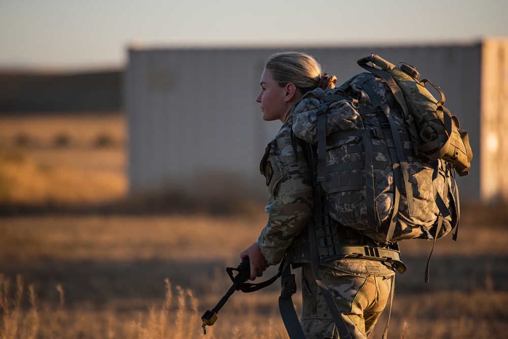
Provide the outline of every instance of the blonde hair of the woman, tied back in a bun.
<path id="1" fill-rule="evenodd" d="M 317 87 L 333 88 L 337 78 L 329 77 L 323 72 L 323 67 L 311 55 L 287 51 L 272 54 L 265 63 L 265 69 L 270 71 L 279 86 L 293 83 L 302 94 Z"/>

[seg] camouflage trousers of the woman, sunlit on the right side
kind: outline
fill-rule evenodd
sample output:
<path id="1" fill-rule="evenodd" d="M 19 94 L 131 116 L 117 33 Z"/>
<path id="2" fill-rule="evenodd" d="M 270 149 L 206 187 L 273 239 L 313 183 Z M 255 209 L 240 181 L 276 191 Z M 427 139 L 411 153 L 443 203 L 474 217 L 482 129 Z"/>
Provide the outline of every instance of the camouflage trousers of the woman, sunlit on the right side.
<path id="1" fill-rule="evenodd" d="M 352 339 L 367 338 L 387 304 L 393 272 L 386 275 L 349 275 L 320 266 L 319 274 L 332 293 Z M 302 266 L 302 300 L 300 322 L 306 338 L 338 339 L 338 330 L 314 280 L 310 264 Z"/>

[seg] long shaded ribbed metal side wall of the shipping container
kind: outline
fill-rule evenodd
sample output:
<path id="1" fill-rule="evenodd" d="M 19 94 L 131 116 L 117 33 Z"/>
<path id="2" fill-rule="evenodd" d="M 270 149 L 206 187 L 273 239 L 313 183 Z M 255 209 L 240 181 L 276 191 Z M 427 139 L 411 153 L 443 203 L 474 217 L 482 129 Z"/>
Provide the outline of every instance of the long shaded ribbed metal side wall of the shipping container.
<path id="1" fill-rule="evenodd" d="M 446 94 L 446 106 L 469 132 L 470 175 L 461 198 L 480 198 L 482 46 L 130 50 L 125 71 L 132 192 L 266 197 L 259 162 L 280 122 L 265 122 L 255 102 L 264 60 L 274 52 L 312 54 L 342 83 L 371 52 L 417 67 Z M 485 197 L 484 197 L 485 198 Z"/>

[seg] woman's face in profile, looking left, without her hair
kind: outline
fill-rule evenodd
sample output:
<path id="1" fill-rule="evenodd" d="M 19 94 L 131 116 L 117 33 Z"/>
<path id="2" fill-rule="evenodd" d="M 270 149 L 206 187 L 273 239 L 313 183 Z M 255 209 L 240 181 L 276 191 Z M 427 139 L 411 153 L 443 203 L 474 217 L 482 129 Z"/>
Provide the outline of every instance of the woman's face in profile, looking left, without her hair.
<path id="1" fill-rule="evenodd" d="M 268 70 L 264 70 L 261 75 L 261 91 L 256 98 L 256 102 L 261 104 L 261 111 L 263 112 L 263 120 L 285 121 L 291 105 L 288 107 L 286 98 L 286 89 L 281 87 L 275 82 L 272 74 Z"/>

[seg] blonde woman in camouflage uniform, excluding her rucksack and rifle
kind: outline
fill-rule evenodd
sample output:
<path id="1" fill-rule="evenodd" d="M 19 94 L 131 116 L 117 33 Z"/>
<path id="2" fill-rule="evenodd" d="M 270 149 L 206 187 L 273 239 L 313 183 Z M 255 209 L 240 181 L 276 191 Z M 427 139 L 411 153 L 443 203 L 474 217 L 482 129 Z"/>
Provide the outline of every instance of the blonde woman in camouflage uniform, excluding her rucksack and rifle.
<path id="1" fill-rule="evenodd" d="M 279 263 L 290 246 L 293 250 L 302 241 L 308 242 L 306 231 L 299 233 L 312 215 L 311 174 L 298 142 L 295 155 L 291 111 L 307 91 L 333 88 L 335 81 L 335 77 L 323 73 L 312 56 L 304 53 L 276 53 L 265 63 L 256 101 L 261 104 L 264 120 L 280 120 L 283 125 L 268 144 L 260 167 L 269 192 L 265 208 L 268 223 L 258 240 L 240 254 L 241 259 L 249 257 L 251 280 L 262 276 L 269 265 Z M 300 323 L 306 337 L 339 338 L 310 261 L 300 257 L 292 258 L 292 262 L 302 264 Z M 320 264 L 320 278 L 332 292 L 352 338 L 366 338 L 372 332 L 386 306 L 393 274 L 393 267 L 374 260 L 342 259 Z"/>

